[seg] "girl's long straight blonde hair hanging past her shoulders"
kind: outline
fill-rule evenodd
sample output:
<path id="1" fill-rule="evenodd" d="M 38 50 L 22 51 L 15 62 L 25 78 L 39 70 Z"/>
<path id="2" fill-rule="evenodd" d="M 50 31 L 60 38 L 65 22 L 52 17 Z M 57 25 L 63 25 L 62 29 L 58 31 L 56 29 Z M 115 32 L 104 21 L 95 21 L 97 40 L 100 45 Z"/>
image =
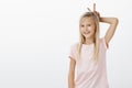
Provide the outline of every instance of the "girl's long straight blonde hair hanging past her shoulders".
<path id="1" fill-rule="evenodd" d="M 95 37 L 94 37 L 94 42 L 95 42 L 94 58 L 95 58 L 95 62 L 97 63 L 98 56 L 99 56 L 99 18 L 94 12 L 86 12 L 85 14 L 80 16 L 79 28 L 80 28 L 81 20 L 84 18 L 89 18 L 89 16 L 94 19 L 95 25 L 96 25 L 96 30 L 95 30 L 96 32 L 95 32 Z M 79 35 L 80 36 L 79 36 L 79 44 L 78 44 L 78 59 L 80 58 L 81 46 L 82 46 L 82 43 L 85 42 L 85 36 L 80 33 L 80 31 L 79 31 Z"/>

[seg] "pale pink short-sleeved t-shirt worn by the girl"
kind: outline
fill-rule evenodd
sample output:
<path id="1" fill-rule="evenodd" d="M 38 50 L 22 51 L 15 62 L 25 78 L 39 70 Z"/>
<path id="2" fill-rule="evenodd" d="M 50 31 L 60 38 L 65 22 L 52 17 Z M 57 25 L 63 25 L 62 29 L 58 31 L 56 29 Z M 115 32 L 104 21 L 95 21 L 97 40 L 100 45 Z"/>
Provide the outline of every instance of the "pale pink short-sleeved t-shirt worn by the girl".
<path id="1" fill-rule="evenodd" d="M 94 63 L 94 44 L 82 44 L 81 58 L 77 59 L 77 43 L 70 47 L 69 57 L 76 61 L 75 88 L 109 88 L 106 67 L 107 44 L 100 38 L 99 63 Z"/>

